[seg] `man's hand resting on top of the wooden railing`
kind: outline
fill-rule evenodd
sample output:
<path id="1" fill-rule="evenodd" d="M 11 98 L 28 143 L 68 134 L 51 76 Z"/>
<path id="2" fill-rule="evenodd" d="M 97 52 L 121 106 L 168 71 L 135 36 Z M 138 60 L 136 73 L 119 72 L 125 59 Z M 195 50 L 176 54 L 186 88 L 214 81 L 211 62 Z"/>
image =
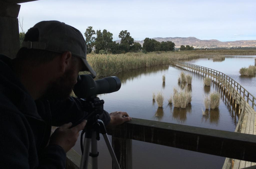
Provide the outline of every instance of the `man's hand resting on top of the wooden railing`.
<path id="1" fill-rule="evenodd" d="M 119 124 L 123 124 L 124 122 L 132 120 L 132 117 L 129 117 L 129 115 L 126 112 L 122 112 L 122 111 L 109 113 L 109 115 L 110 115 L 110 122 L 108 125 L 119 125 Z"/>

